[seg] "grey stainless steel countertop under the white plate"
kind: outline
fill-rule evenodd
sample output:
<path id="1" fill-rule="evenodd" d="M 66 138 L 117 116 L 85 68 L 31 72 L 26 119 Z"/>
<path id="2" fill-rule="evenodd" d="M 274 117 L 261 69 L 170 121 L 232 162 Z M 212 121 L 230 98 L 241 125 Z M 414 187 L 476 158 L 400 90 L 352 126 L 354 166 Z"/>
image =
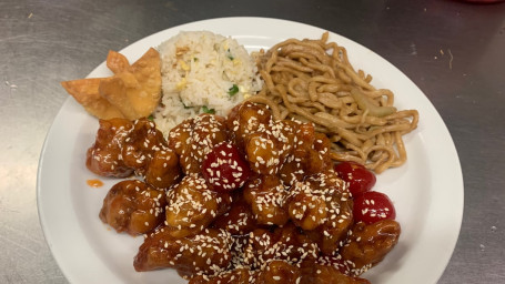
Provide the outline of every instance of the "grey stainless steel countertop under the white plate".
<path id="1" fill-rule="evenodd" d="M 461 235 L 440 283 L 505 283 L 505 3 L 448 0 L 1 1 L 0 283 L 67 283 L 36 200 L 42 143 L 68 97 L 59 82 L 85 77 L 109 49 L 232 16 L 334 31 L 407 74 L 444 119 L 465 182 Z"/>

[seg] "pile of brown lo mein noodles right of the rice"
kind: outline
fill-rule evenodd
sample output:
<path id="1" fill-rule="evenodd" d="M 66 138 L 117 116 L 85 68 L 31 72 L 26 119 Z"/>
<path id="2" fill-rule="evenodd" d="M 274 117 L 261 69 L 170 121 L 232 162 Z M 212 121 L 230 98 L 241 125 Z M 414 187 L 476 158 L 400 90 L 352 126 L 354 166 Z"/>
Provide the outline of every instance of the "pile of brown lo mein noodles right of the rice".
<path id="1" fill-rule="evenodd" d="M 249 101 L 267 104 L 276 120 L 313 122 L 332 143 L 336 161 L 354 161 L 381 173 L 405 163 L 402 135 L 416 129 L 416 110 L 396 111 L 394 94 L 375 89 L 353 69 L 345 48 L 320 40 L 289 39 L 257 54 L 265 84 Z"/>

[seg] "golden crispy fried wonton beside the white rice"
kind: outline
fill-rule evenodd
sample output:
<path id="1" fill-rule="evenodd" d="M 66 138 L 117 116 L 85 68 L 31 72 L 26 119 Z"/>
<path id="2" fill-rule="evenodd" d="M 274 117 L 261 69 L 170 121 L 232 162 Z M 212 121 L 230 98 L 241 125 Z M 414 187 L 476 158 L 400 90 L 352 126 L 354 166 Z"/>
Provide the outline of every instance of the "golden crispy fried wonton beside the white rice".
<path id="1" fill-rule="evenodd" d="M 161 99 L 159 52 L 151 48 L 130 65 L 123 54 L 110 51 L 107 65 L 114 75 L 65 81 L 61 85 L 99 119 L 149 116 Z"/>

